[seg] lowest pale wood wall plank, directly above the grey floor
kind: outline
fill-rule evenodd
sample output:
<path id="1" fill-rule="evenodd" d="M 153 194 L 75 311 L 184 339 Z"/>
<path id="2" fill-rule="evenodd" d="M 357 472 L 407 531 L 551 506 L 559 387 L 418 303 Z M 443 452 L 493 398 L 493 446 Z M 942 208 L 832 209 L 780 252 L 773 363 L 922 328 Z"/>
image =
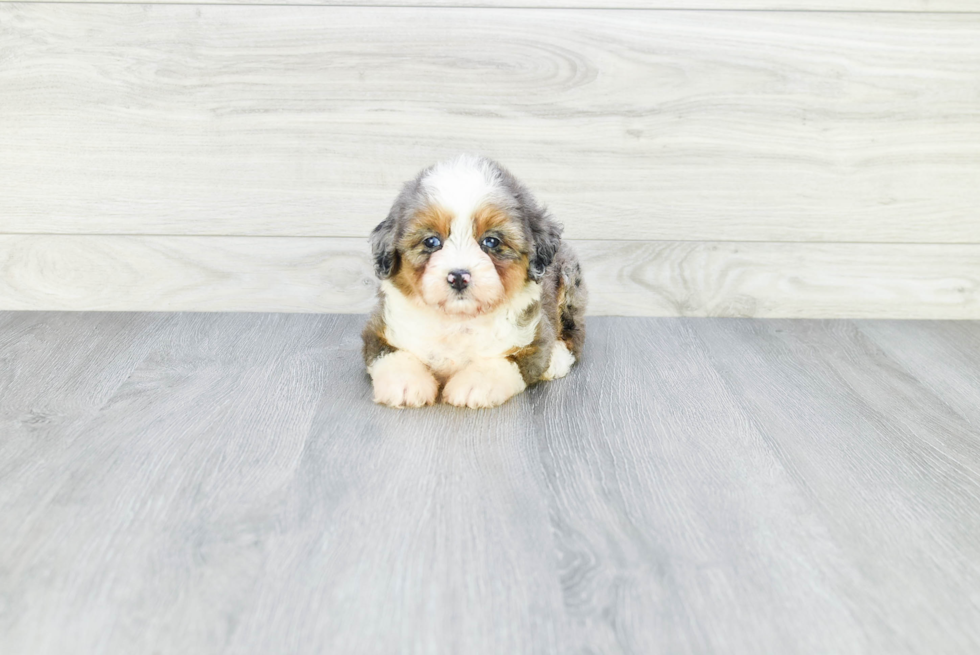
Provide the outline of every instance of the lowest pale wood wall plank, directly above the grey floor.
<path id="1" fill-rule="evenodd" d="M 980 246 L 572 241 L 593 315 L 980 318 Z M 0 309 L 366 312 L 364 239 L 0 236 Z"/>

